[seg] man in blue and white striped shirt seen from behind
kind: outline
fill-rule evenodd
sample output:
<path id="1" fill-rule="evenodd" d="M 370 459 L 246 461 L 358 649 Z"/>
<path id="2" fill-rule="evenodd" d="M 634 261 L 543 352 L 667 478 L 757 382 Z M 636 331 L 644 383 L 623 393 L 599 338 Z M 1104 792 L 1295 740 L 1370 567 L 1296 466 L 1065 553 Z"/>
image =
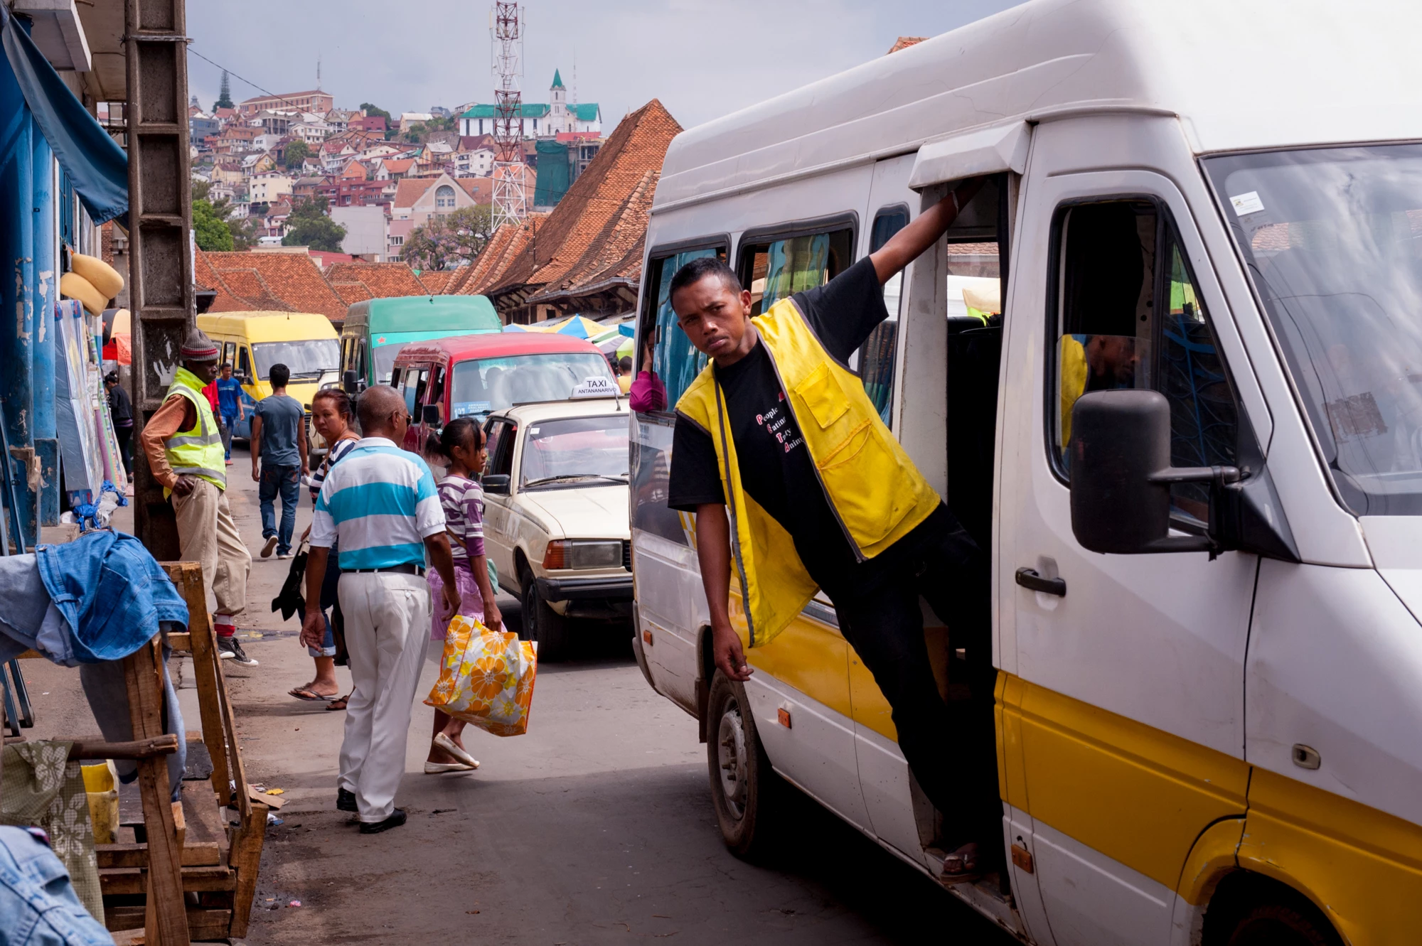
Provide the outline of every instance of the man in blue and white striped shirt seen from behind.
<path id="1" fill-rule="evenodd" d="M 316 497 L 301 642 L 320 646 L 326 635 L 321 578 L 336 544 L 356 685 L 346 706 L 336 807 L 360 814 L 361 834 L 377 834 L 405 824 L 395 790 L 405 774 L 410 710 L 428 642 L 427 555 L 445 584 L 435 605 L 441 614 L 459 609 L 459 592 L 435 477 L 397 446 L 410 425 L 404 398 L 394 388 L 370 388 L 356 413 L 364 437 L 331 467 Z"/>

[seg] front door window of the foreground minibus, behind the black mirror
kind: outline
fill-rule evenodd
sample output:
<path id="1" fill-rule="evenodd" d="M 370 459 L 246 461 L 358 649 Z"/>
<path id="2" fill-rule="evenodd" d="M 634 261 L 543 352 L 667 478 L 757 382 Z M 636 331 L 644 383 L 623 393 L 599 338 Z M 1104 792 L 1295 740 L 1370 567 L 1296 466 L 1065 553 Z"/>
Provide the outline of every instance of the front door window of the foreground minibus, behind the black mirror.
<path id="1" fill-rule="evenodd" d="M 1149 200 L 1076 205 L 1058 213 L 1055 241 L 1051 445 L 1064 479 L 1072 405 L 1116 388 L 1165 395 L 1175 466 L 1236 466 L 1239 406 L 1169 214 Z M 1204 527 L 1207 484 L 1170 496 L 1177 523 Z"/>

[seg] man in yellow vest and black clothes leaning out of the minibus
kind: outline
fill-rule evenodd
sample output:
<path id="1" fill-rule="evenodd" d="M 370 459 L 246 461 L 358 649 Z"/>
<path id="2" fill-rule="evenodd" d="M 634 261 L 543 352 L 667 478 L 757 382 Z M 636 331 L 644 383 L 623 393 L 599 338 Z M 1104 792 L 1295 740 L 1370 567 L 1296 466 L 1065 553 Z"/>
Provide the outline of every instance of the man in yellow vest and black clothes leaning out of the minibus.
<path id="1" fill-rule="evenodd" d="M 711 358 L 677 402 L 667 504 L 697 517 L 715 666 L 751 678 L 728 616 L 732 565 L 752 648 L 822 588 L 944 814 L 953 879 L 974 876 L 975 842 L 1000 834 L 988 564 L 848 364 L 889 317 L 884 281 L 937 241 L 978 186 L 964 183 L 826 286 L 755 318 L 751 294 L 715 257 L 685 264 L 670 287 L 683 331 Z M 939 695 L 920 595 L 968 651 L 970 717 Z"/>

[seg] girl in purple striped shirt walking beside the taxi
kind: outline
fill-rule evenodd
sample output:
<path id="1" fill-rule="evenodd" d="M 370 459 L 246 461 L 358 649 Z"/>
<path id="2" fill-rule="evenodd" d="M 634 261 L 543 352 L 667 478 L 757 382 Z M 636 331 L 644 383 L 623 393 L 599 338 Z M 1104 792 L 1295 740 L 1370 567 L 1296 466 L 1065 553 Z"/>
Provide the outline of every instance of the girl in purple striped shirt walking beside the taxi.
<path id="1" fill-rule="evenodd" d="M 483 473 L 489 460 L 483 430 L 471 418 L 455 418 L 445 425 L 438 439 L 429 437 L 425 450 L 448 460 L 447 476 L 439 480 L 439 504 L 444 507 L 445 531 L 449 533 L 449 551 L 454 554 L 459 614 L 482 621 L 489 631 L 501 631 L 503 621 L 493 601 L 493 585 L 489 584 L 488 560 L 483 554 L 483 489 L 474 479 Z M 431 570 L 425 572 L 425 580 L 434 601 L 439 601 L 444 594 L 439 574 Z M 429 612 L 431 641 L 444 641 L 449 629 L 449 619 L 441 619 L 439 611 L 441 608 L 432 608 Z M 427 776 L 479 767 L 479 760 L 465 751 L 462 733 L 464 722 L 435 710 L 434 740 L 425 760 Z"/>

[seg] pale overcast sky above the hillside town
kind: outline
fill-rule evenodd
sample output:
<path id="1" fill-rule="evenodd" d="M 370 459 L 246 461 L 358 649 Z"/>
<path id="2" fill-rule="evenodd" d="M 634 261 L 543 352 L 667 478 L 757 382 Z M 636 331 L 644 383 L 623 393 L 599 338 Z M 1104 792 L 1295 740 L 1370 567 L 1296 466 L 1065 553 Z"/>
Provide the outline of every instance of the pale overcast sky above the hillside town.
<path id="1" fill-rule="evenodd" d="M 336 105 L 398 115 L 493 101 L 483 0 L 191 0 L 192 53 L 226 67 L 232 98 L 316 87 Z M 691 128 L 887 53 L 899 36 L 937 36 L 1014 0 L 532 0 L 523 4 L 523 99 L 546 102 L 553 70 L 604 131 L 660 98 Z M 242 78 L 237 78 L 237 77 Z M 220 71 L 189 55 L 203 108 Z M 572 97 L 570 97 L 572 98 Z"/>

